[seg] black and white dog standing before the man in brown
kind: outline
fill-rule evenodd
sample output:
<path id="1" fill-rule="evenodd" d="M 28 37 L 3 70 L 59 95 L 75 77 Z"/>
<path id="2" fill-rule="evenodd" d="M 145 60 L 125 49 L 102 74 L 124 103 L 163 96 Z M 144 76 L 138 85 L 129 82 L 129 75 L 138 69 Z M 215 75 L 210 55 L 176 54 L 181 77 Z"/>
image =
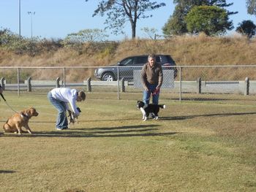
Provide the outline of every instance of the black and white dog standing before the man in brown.
<path id="1" fill-rule="evenodd" d="M 137 101 L 137 107 L 143 115 L 143 120 L 148 119 L 149 113 L 154 116 L 154 120 L 158 119 L 158 112 L 160 108 L 165 109 L 165 104 L 145 104 L 143 101 Z"/>

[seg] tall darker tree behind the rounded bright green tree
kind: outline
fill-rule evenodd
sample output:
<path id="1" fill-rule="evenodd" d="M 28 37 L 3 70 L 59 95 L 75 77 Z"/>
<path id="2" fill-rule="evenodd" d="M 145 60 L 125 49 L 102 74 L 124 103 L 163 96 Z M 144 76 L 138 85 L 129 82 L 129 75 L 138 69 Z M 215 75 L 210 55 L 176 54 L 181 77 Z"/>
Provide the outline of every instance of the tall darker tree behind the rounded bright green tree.
<path id="1" fill-rule="evenodd" d="M 227 4 L 226 0 L 173 0 L 176 4 L 173 15 L 170 16 L 165 26 L 162 28 L 162 32 L 165 35 L 170 34 L 185 34 L 188 32 L 187 23 L 185 18 L 189 11 L 195 6 L 217 6 L 219 8 L 225 8 L 231 6 L 233 3 Z M 227 11 L 227 15 L 233 15 L 237 12 Z"/>

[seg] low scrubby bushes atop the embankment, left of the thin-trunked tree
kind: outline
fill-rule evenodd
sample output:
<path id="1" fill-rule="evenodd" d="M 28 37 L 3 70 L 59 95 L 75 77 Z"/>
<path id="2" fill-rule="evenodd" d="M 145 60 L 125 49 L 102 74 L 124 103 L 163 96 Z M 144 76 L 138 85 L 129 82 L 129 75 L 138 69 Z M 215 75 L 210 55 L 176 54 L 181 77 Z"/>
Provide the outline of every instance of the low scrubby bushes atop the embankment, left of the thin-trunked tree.
<path id="1" fill-rule="evenodd" d="M 116 42 L 107 41 L 74 42 L 68 41 L 67 38 L 64 40 L 39 39 L 39 37 L 29 39 L 20 37 L 6 28 L 0 30 L 0 47 L 19 55 L 27 54 L 29 56 L 36 56 L 49 51 L 56 51 L 61 47 L 75 50 L 79 55 L 83 53 L 87 53 L 88 55 L 94 55 L 95 53 L 105 55 L 113 53 L 117 45 L 118 43 Z"/>

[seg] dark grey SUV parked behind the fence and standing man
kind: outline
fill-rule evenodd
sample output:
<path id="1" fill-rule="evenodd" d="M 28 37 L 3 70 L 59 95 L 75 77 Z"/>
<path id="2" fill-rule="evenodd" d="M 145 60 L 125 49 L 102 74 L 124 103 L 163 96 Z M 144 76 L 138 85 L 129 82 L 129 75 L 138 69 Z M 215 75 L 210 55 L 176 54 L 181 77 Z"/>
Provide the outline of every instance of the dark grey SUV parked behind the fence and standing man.
<path id="1" fill-rule="evenodd" d="M 162 64 L 163 69 L 174 70 L 174 76 L 176 77 L 177 69 L 175 61 L 170 55 L 156 55 L 156 61 Z M 124 78 L 125 80 L 133 80 L 133 70 L 142 69 L 142 66 L 148 62 L 148 55 L 135 55 L 128 58 L 124 58 L 114 66 L 106 66 L 95 69 L 94 76 L 102 81 L 113 81 L 117 80 L 117 73 L 119 71 L 119 79 Z M 120 66 L 118 69 L 116 66 Z"/>

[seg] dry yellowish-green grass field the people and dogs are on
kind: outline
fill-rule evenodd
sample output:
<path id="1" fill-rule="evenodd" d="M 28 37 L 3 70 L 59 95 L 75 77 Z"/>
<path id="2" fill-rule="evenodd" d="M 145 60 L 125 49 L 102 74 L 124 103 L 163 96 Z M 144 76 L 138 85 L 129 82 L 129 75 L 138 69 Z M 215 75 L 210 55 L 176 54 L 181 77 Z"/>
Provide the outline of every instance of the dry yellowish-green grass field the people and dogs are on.
<path id="1" fill-rule="evenodd" d="M 46 93 L 5 96 L 39 116 L 32 135 L 1 129 L 0 191 L 256 191 L 255 96 L 162 96 L 159 120 L 143 122 L 141 94 L 88 93 L 66 131 Z M 1 100 L 1 125 L 12 113 Z"/>

